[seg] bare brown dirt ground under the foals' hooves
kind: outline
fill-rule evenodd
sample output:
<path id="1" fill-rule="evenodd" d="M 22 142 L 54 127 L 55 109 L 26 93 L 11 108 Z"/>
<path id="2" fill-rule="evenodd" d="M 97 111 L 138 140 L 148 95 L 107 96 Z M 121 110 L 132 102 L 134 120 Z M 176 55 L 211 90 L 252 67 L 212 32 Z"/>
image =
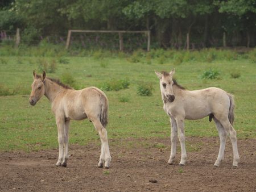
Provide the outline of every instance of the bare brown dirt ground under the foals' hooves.
<path id="1" fill-rule="evenodd" d="M 149 145 L 143 145 L 144 142 Z M 55 166 L 57 149 L 0 152 L 0 191 L 256 191 L 255 139 L 238 140 L 238 168 L 232 167 L 229 139 L 220 168 L 213 166 L 218 155 L 218 137 L 187 137 L 186 146 L 192 149 L 185 166 L 179 166 L 179 151 L 176 164 L 167 164 L 168 138 L 109 143 L 110 169 L 97 168 L 98 144 L 70 145 L 67 168 Z"/>

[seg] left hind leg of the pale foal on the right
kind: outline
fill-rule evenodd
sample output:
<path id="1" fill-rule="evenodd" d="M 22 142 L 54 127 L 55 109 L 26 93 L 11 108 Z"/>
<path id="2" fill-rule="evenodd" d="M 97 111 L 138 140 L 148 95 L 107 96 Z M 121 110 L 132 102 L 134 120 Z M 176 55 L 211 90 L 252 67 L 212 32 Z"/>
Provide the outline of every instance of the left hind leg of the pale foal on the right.
<path id="1" fill-rule="evenodd" d="M 214 166 L 220 166 L 221 161 L 224 160 L 224 151 L 225 151 L 227 133 L 226 133 L 226 130 L 222 127 L 221 123 L 216 118 L 213 118 L 213 120 L 218 130 L 218 136 L 220 137 L 220 150 L 218 151 L 218 157 L 214 163 Z"/>

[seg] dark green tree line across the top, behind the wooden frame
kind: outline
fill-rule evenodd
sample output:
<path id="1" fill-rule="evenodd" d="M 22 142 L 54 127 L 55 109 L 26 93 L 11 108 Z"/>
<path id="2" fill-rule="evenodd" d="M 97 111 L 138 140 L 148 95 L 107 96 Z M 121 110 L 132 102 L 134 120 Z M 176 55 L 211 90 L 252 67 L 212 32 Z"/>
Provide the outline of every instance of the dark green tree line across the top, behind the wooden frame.
<path id="1" fill-rule="evenodd" d="M 255 0 L 5 0 L 0 31 L 20 28 L 29 44 L 73 30 L 150 30 L 157 47 L 255 47 Z"/>

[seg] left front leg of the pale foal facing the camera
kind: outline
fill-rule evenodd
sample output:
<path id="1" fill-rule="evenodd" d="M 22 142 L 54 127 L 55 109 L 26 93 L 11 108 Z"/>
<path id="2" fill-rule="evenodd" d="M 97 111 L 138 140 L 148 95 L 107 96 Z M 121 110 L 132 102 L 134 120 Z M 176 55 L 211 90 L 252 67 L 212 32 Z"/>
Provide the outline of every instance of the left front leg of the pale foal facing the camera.
<path id="1" fill-rule="evenodd" d="M 174 158 L 176 156 L 176 147 L 177 147 L 177 123 L 175 118 L 170 117 L 171 123 L 171 155 L 168 160 L 168 164 L 172 165 Z"/>

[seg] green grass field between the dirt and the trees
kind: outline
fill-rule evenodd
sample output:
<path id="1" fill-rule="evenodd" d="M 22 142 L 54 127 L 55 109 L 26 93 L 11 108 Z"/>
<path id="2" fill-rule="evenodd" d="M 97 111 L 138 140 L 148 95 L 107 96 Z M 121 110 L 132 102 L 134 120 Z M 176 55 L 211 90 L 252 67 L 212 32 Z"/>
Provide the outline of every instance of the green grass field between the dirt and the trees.
<path id="1" fill-rule="evenodd" d="M 1 51 L 1 49 L 0 49 Z M 167 52 L 167 51 L 166 51 Z M 164 52 L 164 54 L 166 54 Z M 141 53 L 139 53 L 141 54 Z M 28 97 L 32 83 L 32 70 L 39 69 L 40 60 L 53 62 L 55 73 L 48 77 L 65 78 L 69 74 L 75 80 L 75 87 L 102 87 L 105 82 L 126 80 L 129 89 L 105 91 L 109 99 L 108 136 L 113 140 L 127 137 L 168 137 L 170 122 L 163 111 L 158 71 L 176 69 L 175 78 L 189 90 L 216 86 L 234 94 L 236 119 L 234 128 L 240 138 L 256 137 L 256 63 L 238 56 L 236 59 L 188 59 L 177 62 L 172 57 L 151 57 L 147 55 L 115 54 L 104 56 L 1 56 L 0 88 L 7 96 L 0 97 L 0 151 L 39 149 L 57 147 L 57 128 L 51 112 L 51 103 L 43 97 L 36 106 L 30 106 Z M 184 52 L 179 53 L 185 54 Z M 207 54 L 207 51 L 202 54 Z M 177 56 L 178 57 L 178 56 Z M 207 57 L 208 58 L 208 57 Z M 42 69 L 42 68 L 40 68 Z M 217 78 L 202 79 L 205 70 L 217 70 Z M 39 71 L 38 71 L 39 72 Z M 232 74 L 239 74 L 233 78 Z M 139 85 L 151 85 L 150 97 L 137 94 Z M 15 90 L 15 91 L 14 91 Z M 72 121 L 69 143 L 85 145 L 99 140 L 97 132 L 88 120 Z M 217 136 L 214 123 L 208 118 L 185 122 L 186 136 Z M 100 142 L 97 142 L 100 144 Z M 129 145 L 129 143 L 127 143 Z M 130 144 L 133 145 L 133 144 Z"/>

